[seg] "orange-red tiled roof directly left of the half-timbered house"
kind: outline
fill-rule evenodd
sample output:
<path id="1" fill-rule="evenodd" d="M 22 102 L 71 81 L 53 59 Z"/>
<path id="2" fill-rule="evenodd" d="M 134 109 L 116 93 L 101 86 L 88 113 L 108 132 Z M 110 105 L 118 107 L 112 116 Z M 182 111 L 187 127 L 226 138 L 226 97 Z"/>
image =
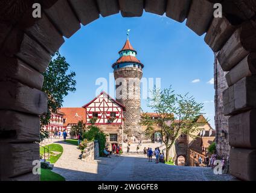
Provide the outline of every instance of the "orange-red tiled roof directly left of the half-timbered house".
<path id="1" fill-rule="evenodd" d="M 85 109 L 82 107 L 63 107 L 60 110 L 65 113 L 63 116 L 63 119 L 65 119 L 64 126 L 67 126 L 68 124 L 77 124 L 78 121 L 86 121 Z"/>

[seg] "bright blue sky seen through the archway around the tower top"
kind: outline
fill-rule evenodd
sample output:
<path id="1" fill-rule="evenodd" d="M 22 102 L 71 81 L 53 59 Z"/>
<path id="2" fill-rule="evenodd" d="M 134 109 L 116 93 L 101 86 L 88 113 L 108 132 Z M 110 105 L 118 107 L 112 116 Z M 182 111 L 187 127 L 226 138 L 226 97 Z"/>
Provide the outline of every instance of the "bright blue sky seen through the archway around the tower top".
<path id="1" fill-rule="evenodd" d="M 161 78 L 161 88 L 172 85 L 176 93 L 189 92 L 200 103 L 214 127 L 213 51 L 185 26 L 166 16 L 144 12 L 142 17 L 122 17 L 115 14 L 100 17 L 65 39 L 60 53 L 77 75 L 77 90 L 65 97 L 63 107 L 81 107 L 95 97 L 97 78 L 109 80 L 112 63 L 126 41 L 144 64 L 143 77 Z M 107 92 L 109 90 L 106 90 Z M 141 101 L 145 112 L 151 112 L 146 100 Z"/>

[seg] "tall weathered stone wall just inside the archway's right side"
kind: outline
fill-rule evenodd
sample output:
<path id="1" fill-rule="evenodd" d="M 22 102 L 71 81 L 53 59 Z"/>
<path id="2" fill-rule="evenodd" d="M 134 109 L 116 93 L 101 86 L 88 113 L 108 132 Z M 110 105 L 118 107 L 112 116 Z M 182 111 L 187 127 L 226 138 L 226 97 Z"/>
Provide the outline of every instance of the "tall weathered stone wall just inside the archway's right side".
<path id="1" fill-rule="evenodd" d="M 219 156 L 229 156 L 230 146 L 228 144 L 228 118 L 224 115 L 223 91 L 228 88 L 224 72 L 215 57 L 214 60 L 214 89 L 215 89 L 215 127 L 216 127 L 216 146 Z M 225 131 L 226 137 L 220 136 L 222 130 Z"/>

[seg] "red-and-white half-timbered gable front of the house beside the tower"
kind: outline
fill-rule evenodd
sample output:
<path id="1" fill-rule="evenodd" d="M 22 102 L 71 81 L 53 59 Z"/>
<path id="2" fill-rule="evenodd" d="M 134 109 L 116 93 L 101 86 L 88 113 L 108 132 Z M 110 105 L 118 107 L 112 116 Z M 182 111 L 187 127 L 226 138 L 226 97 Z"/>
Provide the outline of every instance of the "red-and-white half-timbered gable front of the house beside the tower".
<path id="1" fill-rule="evenodd" d="M 86 124 L 89 124 L 94 113 L 98 114 L 98 119 L 95 122 L 96 125 L 123 124 L 123 110 L 125 110 L 125 107 L 104 91 L 95 97 L 90 103 L 85 104 L 83 108 L 86 109 Z M 110 113 L 115 113 L 115 119 L 112 122 L 109 121 L 111 118 Z"/>

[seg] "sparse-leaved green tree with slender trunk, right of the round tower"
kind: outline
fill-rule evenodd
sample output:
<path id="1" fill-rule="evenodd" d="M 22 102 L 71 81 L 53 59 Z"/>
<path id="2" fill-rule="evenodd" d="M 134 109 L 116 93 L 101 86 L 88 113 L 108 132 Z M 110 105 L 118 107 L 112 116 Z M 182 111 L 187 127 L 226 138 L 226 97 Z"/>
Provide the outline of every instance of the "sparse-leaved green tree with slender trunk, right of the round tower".
<path id="1" fill-rule="evenodd" d="M 200 131 L 196 120 L 202 115 L 203 104 L 197 103 L 188 93 L 176 95 L 171 87 L 162 91 L 154 87 L 152 97 L 147 99 L 147 106 L 157 113 L 158 119 L 151 119 L 147 113 L 143 113 L 140 124 L 146 125 L 145 133 L 148 136 L 156 131 L 161 133 L 168 162 L 170 148 L 182 133 L 196 138 L 195 133 Z M 155 130 L 154 125 L 158 125 L 159 129 Z"/>

